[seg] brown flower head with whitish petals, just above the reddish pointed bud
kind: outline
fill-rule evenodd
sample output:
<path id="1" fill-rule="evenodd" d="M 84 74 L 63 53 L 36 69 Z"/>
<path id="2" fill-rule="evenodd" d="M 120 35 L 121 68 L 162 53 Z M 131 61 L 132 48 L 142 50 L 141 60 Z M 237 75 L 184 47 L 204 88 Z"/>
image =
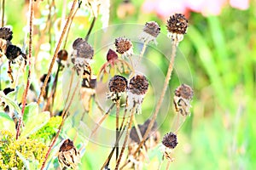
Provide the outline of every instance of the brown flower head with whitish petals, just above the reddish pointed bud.
<path id="1" fill-rule="evenodd" d="M 119 37 L 114 42 L 116 52 L 124 56 L 131 56 L 133 54 L 133 46 L 129 39 L 125 37 Z"/>

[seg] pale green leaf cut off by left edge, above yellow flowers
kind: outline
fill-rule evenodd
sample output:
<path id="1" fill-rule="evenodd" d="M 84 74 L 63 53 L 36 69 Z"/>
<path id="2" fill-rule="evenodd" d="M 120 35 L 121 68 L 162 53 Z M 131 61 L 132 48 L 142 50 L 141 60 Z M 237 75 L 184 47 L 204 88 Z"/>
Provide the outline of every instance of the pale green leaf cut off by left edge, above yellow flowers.
<path id="1" fill-rule="evenodd" d="M 0 112 L 0 129 L 16 133 L 14 120 L 4 112 Z"/>

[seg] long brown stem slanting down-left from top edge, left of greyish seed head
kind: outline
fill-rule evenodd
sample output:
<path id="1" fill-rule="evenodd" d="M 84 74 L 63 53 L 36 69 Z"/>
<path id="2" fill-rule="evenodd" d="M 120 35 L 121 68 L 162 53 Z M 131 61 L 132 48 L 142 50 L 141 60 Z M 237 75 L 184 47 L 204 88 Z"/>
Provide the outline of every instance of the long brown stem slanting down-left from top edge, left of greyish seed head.
<path id="1" fill-rule="evenodd" d="M 69 22 L 70 22 L 70 20 L 71 20 L 71 17 L 72 17 L 72 14 L 73 14 L 73 11 L 74 11 L 74 8 L 75 8 L 75 5 L 76 5 L 77 2 L 78 2 L 78 0 L 73 0 L 72 8 L 70 9 L 70 13 L 69 13 L 69 15 L 68 15 L 68 17 L 67 17 L 66 24 L 65 24 L 65 26 L 64 26 L 64 28 L 63 28 L 63 31 L 61 32 L 60 40 L 59 40 L 59 42 L 58 42 L 58 44 L 57 44 L 57 47 L 55 48 L 55 54 L 54 54 L 53 58 L 51 59 L 51 63 L 50 63 L 50 65 L 49 65 L 49 70 L 48 70 L 47 76 L 45 77 L 45 80 L 44 80 L 44 85 L 43 85 L 43 87 L 41 88 L 41 92 L 40 92 L 39 97 L 38 97 L 38 104 L 40 104 L 40 99 L 41 99 L 41 97 L 42 97 L 42 96 L 44 95 L 44 93 L 45 93 L 45 87 L 46 87 L 47 82 L 48 82 L 48 80 L 49 80 L 49 75 L 50 75 L 50 73 L 51 73 L 51 71 L 52 71 L 52 69 L 53 69 L 53 66 L 54 66 L 54 64 L 55 64 L 55 59 L 56 59 L 57 54 L 58 54 L 58 52 L 59 52 L 59 50 L 60 50 L 60 48 L 61 48 L 61 42 L 62 42 L 62 40 L 63 40 L 63 38 L 64 38 L 64 35 L 65 35 L 66 31 L 67 31 L 67 26 L 68 26 L 68 24 L 69 24 Z"/>

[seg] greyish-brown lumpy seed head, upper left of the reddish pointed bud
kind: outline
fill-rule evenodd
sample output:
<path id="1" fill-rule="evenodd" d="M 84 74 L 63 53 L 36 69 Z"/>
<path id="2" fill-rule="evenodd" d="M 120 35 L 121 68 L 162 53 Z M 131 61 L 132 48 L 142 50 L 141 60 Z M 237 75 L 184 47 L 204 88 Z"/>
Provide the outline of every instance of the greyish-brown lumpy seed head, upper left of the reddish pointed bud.
<path id="1" fill-rule="evenodd" d="M 73 49 L 76 51 L 73 55 L 78 58 L 92 59 L 94 55 L 94 50 L 90 44 L 80 37 L 73 42 Z"/>

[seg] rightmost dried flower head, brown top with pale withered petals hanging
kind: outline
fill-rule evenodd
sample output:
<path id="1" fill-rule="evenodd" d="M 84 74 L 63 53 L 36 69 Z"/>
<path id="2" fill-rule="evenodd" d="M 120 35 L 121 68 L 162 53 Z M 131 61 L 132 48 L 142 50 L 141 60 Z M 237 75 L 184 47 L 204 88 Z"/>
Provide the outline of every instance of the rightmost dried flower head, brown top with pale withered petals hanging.
<path id="1" fill-rule="evenodd" d="M 176 88 L 173 103 L 177 113 L 182 116 L 189 116 L 190 100 L 193 98 L 193 89 L 189 85 L 182 84 Z"/>

